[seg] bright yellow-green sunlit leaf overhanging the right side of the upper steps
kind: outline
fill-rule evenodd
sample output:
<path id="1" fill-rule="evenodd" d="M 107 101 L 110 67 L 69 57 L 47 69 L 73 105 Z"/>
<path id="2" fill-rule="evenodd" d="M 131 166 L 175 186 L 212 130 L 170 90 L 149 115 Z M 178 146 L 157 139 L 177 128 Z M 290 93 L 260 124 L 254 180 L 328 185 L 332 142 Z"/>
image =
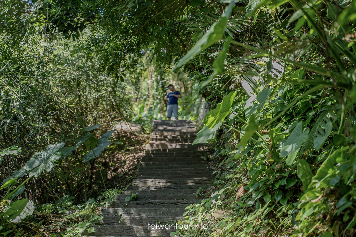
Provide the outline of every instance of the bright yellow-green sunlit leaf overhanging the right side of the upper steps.
<path id="1" fill-rule="evenodd" d="M 203 123 L 209 128 L 213 128 L 216 124 L 223 121 L 225 117 L 230 113 L 230 108 L 234 102 L 237 92 L 230 92 L 223 98 L 223 101 L 219 103 L 215 109 L 209 111 L 203 119 Z"/>

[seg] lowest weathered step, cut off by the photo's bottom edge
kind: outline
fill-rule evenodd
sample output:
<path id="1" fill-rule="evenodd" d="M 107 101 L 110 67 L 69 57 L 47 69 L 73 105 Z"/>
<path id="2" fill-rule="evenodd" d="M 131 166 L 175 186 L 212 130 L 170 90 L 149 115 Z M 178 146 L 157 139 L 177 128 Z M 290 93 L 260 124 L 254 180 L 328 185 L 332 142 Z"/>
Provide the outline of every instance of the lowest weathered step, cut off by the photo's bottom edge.
<path id="1" fill-rule="evenodd" d="M 169 236 L 171 229 L 149 229 L 148 226 L 93 226 L 95 232 L 87 236 Z"/>

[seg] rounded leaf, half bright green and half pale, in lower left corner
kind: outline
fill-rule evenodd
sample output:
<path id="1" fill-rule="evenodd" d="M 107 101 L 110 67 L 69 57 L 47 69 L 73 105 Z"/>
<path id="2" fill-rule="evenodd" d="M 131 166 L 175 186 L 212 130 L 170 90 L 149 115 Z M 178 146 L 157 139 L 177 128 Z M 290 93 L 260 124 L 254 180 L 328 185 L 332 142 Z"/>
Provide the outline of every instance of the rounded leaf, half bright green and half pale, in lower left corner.
<path id="1" fill-rule="evenodd" d="M 11 203 L 4 216 L 7 216 L 11 222 L 19 223 L 22 219 L 32 215 L 33 210 L 35 210 L 33 201 L 23 198 Z"/>

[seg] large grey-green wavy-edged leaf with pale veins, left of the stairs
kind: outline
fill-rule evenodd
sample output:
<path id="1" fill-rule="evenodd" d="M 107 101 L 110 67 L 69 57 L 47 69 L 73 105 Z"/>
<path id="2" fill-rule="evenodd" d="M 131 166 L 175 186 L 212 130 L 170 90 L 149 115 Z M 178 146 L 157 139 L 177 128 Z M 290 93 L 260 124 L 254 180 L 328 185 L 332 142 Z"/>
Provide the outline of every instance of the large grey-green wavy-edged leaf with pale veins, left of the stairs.
<path id="1" fill-rule="evenodd" d="M 51 171 L 51 169 L 56 166 L 54 161 L 61 158 L 61 153 L 58 151 L 64 146 L 64 143 L 50 144 L 47 146 L 46 150 L 35 152 L 33 156 L 26 162 L 23 167 L 25 170 L 30 171 L 30 177 L 38 177 L 42 171 Z"/>

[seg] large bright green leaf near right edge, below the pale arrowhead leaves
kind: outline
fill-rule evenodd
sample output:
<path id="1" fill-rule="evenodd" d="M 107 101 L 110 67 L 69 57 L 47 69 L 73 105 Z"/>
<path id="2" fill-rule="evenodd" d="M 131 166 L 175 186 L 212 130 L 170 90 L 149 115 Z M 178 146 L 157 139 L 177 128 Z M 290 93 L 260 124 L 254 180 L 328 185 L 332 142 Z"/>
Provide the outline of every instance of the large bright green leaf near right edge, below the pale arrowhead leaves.
<path id="1" fill-rule="evenodd" d="M 336 164 L 336 160 L 342 161 L 346 160 L 347 158 L 347 150 L 349 149 L 348 146 L 341 147 L 340 149 L 336 150 L 333 154 L 331 154 L 324 162 L 321 164 L 320 168 L 316 172 L 315 176 L 312 178 L 312 183 L 308 187 L 309 189 L 312 188 L 314 184 L 316 188 L 324 188 L 327 187 L 329 184 L 330 176 L 329 170 L 332 170 Z"/>

